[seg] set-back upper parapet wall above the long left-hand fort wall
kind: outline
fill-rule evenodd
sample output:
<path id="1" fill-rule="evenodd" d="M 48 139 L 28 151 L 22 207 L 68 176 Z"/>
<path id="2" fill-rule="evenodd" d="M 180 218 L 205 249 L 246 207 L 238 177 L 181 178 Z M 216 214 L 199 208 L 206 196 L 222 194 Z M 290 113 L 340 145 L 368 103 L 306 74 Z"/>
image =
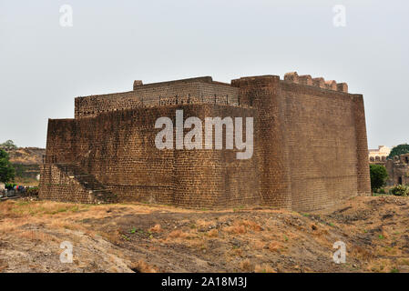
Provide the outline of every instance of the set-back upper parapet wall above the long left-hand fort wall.
<path id="1" fill-rule="evenodd" d="M 95 117 L 109 111 L 184 104 L 240 106 L 239 89 L 213 81 L 211 76 L 146 85 L 135 80 L 132 91 L 77 97 L 75 116 Z"/>

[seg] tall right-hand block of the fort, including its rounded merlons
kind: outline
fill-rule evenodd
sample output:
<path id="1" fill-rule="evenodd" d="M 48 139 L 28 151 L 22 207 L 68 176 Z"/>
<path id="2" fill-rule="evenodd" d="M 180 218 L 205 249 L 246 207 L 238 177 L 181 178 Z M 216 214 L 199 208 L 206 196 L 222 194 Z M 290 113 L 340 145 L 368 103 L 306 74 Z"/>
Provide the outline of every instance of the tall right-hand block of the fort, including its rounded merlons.
<path id="1" fill-rule="evenodd" d="M 370 195 L 362 95 L 347 85 L 291 73 L 232 81 L 257 108 L 263 204 L 311 211 Z"/>

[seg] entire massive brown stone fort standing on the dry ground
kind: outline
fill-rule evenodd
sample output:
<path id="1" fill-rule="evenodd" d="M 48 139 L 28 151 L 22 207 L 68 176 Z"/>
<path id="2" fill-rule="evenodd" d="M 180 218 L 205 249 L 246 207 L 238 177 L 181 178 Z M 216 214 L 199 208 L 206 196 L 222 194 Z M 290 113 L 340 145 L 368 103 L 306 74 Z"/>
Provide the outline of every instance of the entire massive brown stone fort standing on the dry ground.
<path id="1" fill-rule="evenodd" d="M 158 117 L 253 117 L 254 153 L 162 149 Z M 371 194 L 363 95 L 345 83 L 287 73 L 210 76 L 75 99 L 75 118 L 49 119 L 40 197 L 311 211 Z"/>

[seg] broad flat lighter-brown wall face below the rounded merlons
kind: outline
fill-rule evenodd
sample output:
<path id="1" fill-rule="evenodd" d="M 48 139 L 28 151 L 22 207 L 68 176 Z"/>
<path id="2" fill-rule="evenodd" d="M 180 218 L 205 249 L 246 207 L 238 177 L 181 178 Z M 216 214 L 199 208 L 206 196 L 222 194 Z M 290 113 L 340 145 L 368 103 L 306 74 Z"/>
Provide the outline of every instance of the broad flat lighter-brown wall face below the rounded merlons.
<path id="1" fill-rule="evenodd" d="M 292 208 L 334 206 L 357 195 L 356 131 L 352 97 L 281 82 L 289 150 Z"/>

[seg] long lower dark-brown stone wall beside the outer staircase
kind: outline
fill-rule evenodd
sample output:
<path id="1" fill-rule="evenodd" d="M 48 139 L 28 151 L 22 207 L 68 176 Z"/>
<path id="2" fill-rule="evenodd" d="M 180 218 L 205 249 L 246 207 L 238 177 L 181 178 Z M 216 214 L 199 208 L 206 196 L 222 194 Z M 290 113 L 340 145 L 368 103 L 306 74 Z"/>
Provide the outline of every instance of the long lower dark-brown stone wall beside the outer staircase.
<path id="1" fill-rule="evenodd" d="M 136 108 L 95 118 L 50 120 L 46 156 L 76 163 L 118 195 L 120 201 L 149 201 L 188 207 L 254 205 L 259 201 L 255 159 L 237 160 L 230 150 L 158 150 L 158 117 L 253 116 L 231 105 L 169 105 Z M 185 133 L 189 129 L 185 130 Z M 204 131 L 204 123 L 203 123 Z M 203 135 L 204 136 L 204 135 Z"/>

